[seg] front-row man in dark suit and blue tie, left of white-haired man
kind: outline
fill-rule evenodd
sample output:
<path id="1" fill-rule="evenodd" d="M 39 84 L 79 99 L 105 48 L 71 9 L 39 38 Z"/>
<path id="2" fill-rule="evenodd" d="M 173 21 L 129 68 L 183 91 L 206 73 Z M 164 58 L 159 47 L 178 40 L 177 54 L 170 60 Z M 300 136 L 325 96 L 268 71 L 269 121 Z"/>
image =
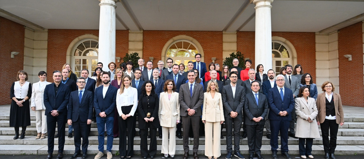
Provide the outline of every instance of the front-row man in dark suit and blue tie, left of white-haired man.
<path id="1" fill-rule="evenodd" d="M 266 118 L 268 113 L 268 101 L 260 90 L 260 83 L 253 81 L 250 84 L 252 91 L 246 91 L 244 101 L 244 123 L 248 132 L 249 159 L 253 159 L 253 154 L 258 159 L 263 157 L 260 154 L 262 147 L 262 137 Z"/>

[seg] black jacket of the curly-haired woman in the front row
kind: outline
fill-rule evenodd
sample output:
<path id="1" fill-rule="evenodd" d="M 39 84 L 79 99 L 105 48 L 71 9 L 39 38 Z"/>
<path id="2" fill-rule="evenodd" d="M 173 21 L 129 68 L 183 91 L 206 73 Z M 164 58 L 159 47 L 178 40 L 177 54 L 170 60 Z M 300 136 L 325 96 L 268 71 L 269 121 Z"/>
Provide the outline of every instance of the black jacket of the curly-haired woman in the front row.
<path id="1" fill-rule="evenodd" d="M 139 98 L 138 102 L 138 122 L 139 129 L 148 129 L 144 118 L 147 117 L 148 105 L 147 105 L 148 95 L 142 94 Z M 150 117 L 154 117 L 153 122 L 148 122 L 149 127 L 151 129 L 159 128 L 159 117 L 158 117 L 158 109 L 159 109 L 159 97 L 157 93 L 149 95 L 149 111 Z"/>

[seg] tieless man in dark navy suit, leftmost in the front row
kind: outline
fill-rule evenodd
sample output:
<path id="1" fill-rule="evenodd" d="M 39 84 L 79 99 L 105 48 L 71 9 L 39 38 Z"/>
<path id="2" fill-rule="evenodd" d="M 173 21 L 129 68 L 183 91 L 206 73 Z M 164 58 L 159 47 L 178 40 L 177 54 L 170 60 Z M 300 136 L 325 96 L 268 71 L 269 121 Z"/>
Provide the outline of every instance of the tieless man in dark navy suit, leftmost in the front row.
<path id="1" fill-rule="evenodd" d="M 52 158 L 54 150 L 54 134 L 56 123 L 58 125 L 58 155 L 57 159 L 63 158 L 64 131 L 67 121 L 67 105 L 70 98 L 70 87 L 63 84 L 62 73 L 53 72 L 54 83 L 49 84 L 44 89 L 44 106 L 46 107 L 47 131 L 48 131 L 48 156 Z"/>

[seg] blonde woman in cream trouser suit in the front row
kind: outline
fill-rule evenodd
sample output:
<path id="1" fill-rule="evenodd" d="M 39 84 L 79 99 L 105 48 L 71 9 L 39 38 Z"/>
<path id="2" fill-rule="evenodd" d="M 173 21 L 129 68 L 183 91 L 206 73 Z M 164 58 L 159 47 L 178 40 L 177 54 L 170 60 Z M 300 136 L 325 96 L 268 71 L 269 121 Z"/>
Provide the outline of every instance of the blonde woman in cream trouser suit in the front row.
<path id="1" fill-rule="evenodd" d="M 222 98 L 216 81 L 207 83 L 203 94 L 202 122 L 205 123 L 205 156 L 217 159 L 221 155 L 221 124 L 225 121 L 222 109 Z M 213 131 L 214 130 L 214 131 Z"/>

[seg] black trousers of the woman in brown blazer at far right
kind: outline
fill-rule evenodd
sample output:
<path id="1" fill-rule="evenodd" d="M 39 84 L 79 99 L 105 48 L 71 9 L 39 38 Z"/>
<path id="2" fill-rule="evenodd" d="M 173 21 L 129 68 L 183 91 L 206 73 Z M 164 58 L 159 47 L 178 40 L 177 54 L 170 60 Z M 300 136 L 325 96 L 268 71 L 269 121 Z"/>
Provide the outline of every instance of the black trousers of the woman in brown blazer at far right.
<path id="1" fill-rule="evenodd" d="M 333 154 L 336 148 L 337 131 L 339 130 L 339 124 L 336 123 L 336 119 L 329 120 L 325 119 L 320 124 L 322 133 L 322 143 L 324 145 L 325 153 Z M 329 140 L 330 130 L 330 140 Z"/>

